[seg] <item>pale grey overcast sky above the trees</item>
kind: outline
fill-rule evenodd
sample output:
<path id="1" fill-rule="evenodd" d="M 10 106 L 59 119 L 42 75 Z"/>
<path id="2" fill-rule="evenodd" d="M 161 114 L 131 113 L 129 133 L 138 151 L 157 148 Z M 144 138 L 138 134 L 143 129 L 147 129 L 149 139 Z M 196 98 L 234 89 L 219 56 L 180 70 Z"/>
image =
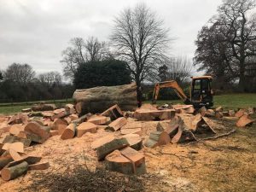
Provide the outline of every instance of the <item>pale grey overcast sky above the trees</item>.
<path id="1" fill-rule="evenodd" d="M 172 55 L 193 57 L 197 32 L 221 0 L 0 0 L 0 69 L 28 63 L 61 72 L 61 50 L 74 37 L 108 40 L 113 17 L 146 3 L 170 28 Z M 195 71 L 195 70 L 194 70 Z"/>

